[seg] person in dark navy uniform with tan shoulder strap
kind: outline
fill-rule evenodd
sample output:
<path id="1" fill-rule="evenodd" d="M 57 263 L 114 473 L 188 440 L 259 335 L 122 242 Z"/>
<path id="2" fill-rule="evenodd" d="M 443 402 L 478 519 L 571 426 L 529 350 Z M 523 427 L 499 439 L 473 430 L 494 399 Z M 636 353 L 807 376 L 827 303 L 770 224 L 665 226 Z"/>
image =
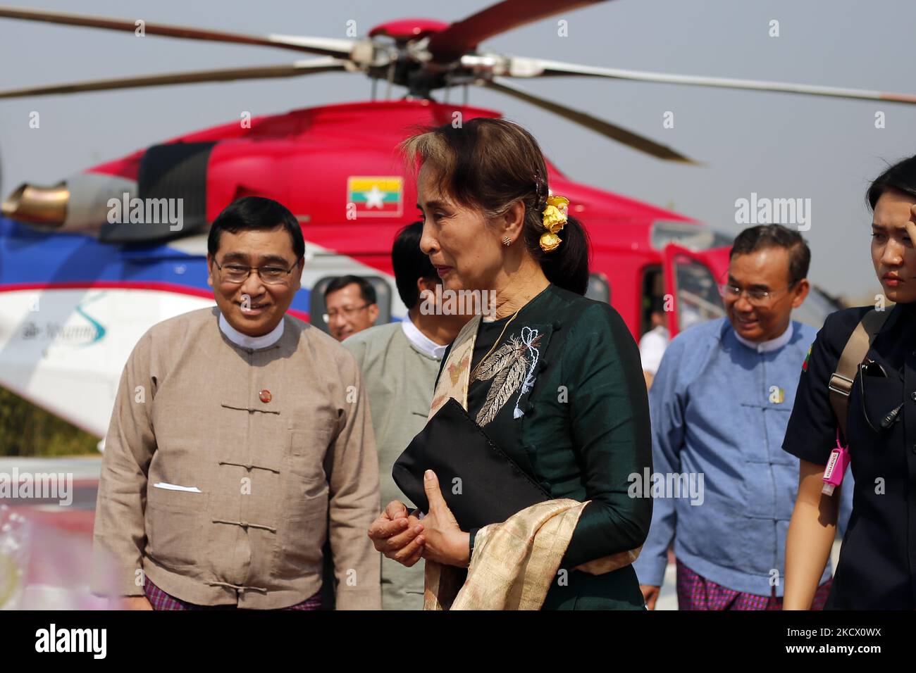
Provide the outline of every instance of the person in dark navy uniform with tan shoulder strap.
<path id="1" fill-rule="evenodd" d="M 874 212 L 871 256 L 889 302 L 871 344 L 867 375 L 849 396 L 855 477 L 849 519 L 827 609 L 916 608 L 916 157 L 888 168 L 867 191 Z M 828 380 L 850 335 L 870 310 L 827 318 L 802 369 L 783 449 L 802 459 L 786 542 L 785 609 L 806 610 L 834 542 L 838 494 L 821 493 L 836 445 Z M 864 391 L 864 392 L 863 392 Z M 845 487 L 845 486 L 841 486 Z"/>

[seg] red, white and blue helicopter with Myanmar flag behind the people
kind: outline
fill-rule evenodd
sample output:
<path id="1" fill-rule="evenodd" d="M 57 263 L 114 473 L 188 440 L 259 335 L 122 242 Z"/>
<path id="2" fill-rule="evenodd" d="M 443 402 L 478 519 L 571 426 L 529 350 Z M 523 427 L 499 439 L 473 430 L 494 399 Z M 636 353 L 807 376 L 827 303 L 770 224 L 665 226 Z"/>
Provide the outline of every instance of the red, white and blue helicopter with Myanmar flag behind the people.
<path id="1" fill-rule="evenodd" d="M 433 99 L 481 86 L 536 105 L 639 152 L 691 159 L 653 140 L 540 98 L 519 79 L 582 76 L 838 98 L 916 103 L 916 96 L 769 81 L 627 71 L 517 57 L 479 45 L 511 28 L 597 2 L 504 0 L 452 24 L 403 19 L 365 38 L 253 36 L 143 21 L 0 7 L 0 19 L 129 31 L 147 36 L 270 46 L 317 55 L 278 66 L 192 71 L 0 91 L 0 98 L 134 87 L 359 72 L 373 100 L 245 118 L 172 138 L 89 168 L 50 187 L 24 184 L 0 218 L 0 385 L 103 436 L 118 376 L 149 326 L 211 305 L 205 236 L 225 205 L 246 195 L 284 203 L 307 243 L 303 288 L 291 312 L 322 329 L 331 277 L 370 277 L 379 320 L 403 316 L 390 249 L 419 219 L 416 189 L 395 152 L 420 126 L 499 113 Z M 376 83 L 407 89 L 375 100 Z M 447 100 L 443 99 L 443 100 Z M 635 337 L 651 326 L 653 299 L 670 300 L 671 335 L 723 315 L 717 286 L 731 238 L 676 212 L 573 182 L 548 163 L 549 184 L 569 197 L 593 244 L 588 295 L 611 302 Z M 175 205 L 179 212 L 172 212 Z M 820 325 L 836 308 L 815 288 L 798 320 Z"/>

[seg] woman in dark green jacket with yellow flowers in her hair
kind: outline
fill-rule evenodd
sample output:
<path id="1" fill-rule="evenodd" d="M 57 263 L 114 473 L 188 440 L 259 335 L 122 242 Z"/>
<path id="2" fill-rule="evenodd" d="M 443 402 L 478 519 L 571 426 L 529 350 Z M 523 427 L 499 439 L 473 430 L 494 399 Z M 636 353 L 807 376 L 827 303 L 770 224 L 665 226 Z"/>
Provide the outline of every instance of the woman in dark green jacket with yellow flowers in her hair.
<path id="1" fill-rule="evenodd" d="M 549 197 L 540 147 L 518 125 L 444 125 L 407 148 L 421 163 L 420 246 L 443 289 L 496 296 L 496 320 L 481 320 L 475 335 L 468 414 L 552 498 L 591 501 L 562 557 L 566 581 L 552 581 L 541 606 L 643 609 L 631 565 L 603 574 L 573 570 L 640 547 L 652 511 L 649 498 L 627 493 L 628 476 L 651 466 L 638 348 L 615 309 L 583 297 L 582 224 L 567 218 L 565 200 Z M 441 370 L 440 379 L 452 374 Z M 422 556 L 462 568 L 475 533 L 460 530 L 447 511 L 408 520 L 395 502 L 369 534 L 405 565 Z"/>

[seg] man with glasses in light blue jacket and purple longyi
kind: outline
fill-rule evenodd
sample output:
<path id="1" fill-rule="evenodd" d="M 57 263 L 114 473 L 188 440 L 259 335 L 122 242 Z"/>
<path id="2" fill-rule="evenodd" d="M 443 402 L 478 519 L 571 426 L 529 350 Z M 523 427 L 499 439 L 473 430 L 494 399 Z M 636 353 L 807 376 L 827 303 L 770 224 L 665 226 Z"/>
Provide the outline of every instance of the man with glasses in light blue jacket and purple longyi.
<path id="1" fill-rule="evenodd" d="M 649 609 L 672 539 L 681 610 L 781 608 L 799 469 L 781 445 L 815 336 L 791 311 L 808 295 L 811 251 L 801 234 L 764 224 L 738 234 L 730 260 L 727 318 L 672 340 L 649 391 L 655 472 L 634 475 L 651 488 L 632 489 L 655 498 L 634 564 Z M 828 564 L 812 608 L 830 582 Z"/>

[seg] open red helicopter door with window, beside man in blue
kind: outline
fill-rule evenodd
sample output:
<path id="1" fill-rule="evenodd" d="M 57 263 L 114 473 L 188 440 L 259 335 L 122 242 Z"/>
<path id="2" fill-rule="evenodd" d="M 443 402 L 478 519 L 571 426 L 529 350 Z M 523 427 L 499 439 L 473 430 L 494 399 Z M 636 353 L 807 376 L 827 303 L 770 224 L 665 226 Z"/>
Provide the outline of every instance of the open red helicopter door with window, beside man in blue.
<path id="1" fill-rule="evenodd" d="M 668 329 L 673 338 L 699 322 L 725 317 L 718 285 L 727 266 L 721 255 L 697 252 L 678 244 L 664 250 L 665 303 Z"/>

